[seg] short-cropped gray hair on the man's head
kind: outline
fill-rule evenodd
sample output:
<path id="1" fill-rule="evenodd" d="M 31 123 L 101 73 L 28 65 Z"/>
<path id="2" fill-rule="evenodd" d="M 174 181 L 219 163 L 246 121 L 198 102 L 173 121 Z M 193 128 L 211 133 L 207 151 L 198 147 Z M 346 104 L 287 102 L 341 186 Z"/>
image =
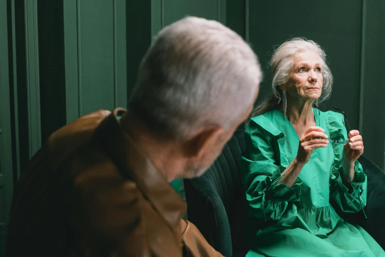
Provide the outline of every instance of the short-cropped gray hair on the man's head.
<path id="1" fill-rule="evenodd" d="M 257 56 L 236 32 L 187 17 L 158 33 L 129 108 L 170 139 L 205 126 L 227 129 L 253 104 L 261 79 Z"/>

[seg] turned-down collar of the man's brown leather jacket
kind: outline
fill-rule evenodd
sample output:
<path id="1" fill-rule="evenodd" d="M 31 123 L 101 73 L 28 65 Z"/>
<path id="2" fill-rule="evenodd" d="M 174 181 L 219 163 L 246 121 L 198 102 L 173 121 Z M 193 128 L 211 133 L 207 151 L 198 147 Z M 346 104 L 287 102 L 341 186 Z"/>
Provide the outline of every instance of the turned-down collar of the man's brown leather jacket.
<path id="1" fill-rule="evenodd" d="M 124 113 L 126 110 L 123 108 L 115 109 L 95 129 L 94 135 L 102 142 L 122 176 L 137 184 L 145 198 L 148 198 L 173 230 L 180 229 L 180 219 L 186 212 L 186 203 L 124 131 L 117 119 Z M 180 231 L 175 232 L 180 234 Z"/>

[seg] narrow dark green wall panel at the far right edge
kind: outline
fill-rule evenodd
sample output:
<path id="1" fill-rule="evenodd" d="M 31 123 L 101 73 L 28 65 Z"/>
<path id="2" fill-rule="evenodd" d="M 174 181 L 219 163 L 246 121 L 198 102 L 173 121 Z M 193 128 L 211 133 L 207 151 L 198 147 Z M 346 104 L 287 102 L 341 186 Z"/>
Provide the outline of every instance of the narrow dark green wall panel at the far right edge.
<path id="1" fill-rule="evenodd" d="M 364 155 L 385 170 L 385 1 L 366 1 L 365 53 L 362 56 Z"/>

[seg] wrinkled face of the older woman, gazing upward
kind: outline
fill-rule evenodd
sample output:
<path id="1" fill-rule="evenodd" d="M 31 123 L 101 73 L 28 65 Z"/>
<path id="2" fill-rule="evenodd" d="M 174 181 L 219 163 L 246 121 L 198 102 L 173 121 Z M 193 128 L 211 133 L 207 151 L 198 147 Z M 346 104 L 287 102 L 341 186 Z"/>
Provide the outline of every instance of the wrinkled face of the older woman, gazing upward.
<path id="1" fill-rule="evenodd" d="M 322 67 L 317 54 L 302 52 L 294 57 L 288 82 L 281 87 L 291 98 L 318 99 L 322 92 Z"/>

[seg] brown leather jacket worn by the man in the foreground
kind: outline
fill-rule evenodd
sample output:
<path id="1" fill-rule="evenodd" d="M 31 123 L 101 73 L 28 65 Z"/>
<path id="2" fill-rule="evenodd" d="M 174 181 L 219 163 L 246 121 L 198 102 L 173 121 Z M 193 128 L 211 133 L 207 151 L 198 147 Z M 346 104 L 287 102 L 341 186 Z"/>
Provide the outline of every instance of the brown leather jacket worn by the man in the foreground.
<path id="1" fill-rule="evenodd" d="M 114 113 L 53 133 L 14 194 L 6 257 L 221 256 Z"/>

